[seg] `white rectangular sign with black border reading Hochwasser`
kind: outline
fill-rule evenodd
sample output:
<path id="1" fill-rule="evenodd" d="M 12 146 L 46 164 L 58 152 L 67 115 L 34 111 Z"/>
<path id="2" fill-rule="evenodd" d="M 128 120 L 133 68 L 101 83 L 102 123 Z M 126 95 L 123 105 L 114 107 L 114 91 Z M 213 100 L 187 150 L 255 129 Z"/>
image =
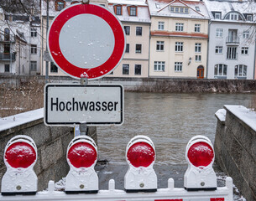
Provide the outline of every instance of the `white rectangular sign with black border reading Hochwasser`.
<path id="1" fill-rule="evenodd" d="M 47 126 L 123 124 L 123 85 L 62 85 L 44 87 Z"/>

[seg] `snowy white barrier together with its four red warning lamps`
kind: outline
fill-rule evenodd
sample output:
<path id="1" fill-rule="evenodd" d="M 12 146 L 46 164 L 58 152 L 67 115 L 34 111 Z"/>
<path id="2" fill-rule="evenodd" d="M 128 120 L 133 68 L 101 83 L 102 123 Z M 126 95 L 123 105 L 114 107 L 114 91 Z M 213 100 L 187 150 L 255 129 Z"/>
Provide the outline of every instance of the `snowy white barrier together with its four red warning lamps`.
<path id="1" fill-rule="evenodd" d="M 207 137 L 192 137 L 187 144 L 185 157 L 189 166 L 184 188 L 175 188 L 172 178 L 169 178 L 167 188 L 157 188 L 153 169 L 154 144 L 149 137 L 133 137 L 126 150 L 129 169 L 125 175 L 125 191 L 116 189 L 113 179 L 109 181 L 108 189 L 98 190 L 94 170 L 97 146 L 91 137 L 75 137 L 68 146 L 67 161 L 71 170 L 66 177 L 65 192 L 55 191 L 55 183 L 50 181 L 47 191 L 37 193 L 37 178 L 33 171 L 36 147 L 30 137 L 18 137 L 13 137 L 5 148 L 4 160 L 8 171 L 2 180 L 0 200 L 232 201 L 232 178 L 226 178 L 226 186 L 217 187 L 217 178 L 212 169 L 214 151 Z M 18 147 L 19 143 L 24 147 Z M 25 157 L 26 154 L 29 157 Z M 28 158 L 29 162 L 24 162 L 27 161 L 24 158 Z M 20 166 L 20 161 L 26 165 Z"/>

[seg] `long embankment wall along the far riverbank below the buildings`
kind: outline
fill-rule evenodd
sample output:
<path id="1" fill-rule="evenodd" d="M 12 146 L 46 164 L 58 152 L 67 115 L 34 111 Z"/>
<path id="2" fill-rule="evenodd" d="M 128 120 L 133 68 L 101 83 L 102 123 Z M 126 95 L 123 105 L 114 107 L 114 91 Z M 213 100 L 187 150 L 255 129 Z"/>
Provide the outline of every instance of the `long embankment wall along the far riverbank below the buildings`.
<path id="1" fill-rule="evenodd" d="M 45 82 L 43 75 L 0 75 L 0 87 L 10 87 L 37 80 Z M 79 83 L 68 76 L 50 76 L 54 83 Z M 177 79 L 177 78 L 115 78 L 91 80 L 89 84 L 121 84 L 124 90 L 145 92 L 244 92 L 256 91 L 256 80 Z"/>

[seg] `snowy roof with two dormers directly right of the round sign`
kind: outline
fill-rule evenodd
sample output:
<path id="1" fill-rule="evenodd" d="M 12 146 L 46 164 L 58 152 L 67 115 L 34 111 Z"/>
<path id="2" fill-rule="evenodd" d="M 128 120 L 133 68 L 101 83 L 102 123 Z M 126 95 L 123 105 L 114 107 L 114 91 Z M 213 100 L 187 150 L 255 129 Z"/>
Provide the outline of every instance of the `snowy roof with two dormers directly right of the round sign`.
<path id="1" fill-rule="evenodd" d="M 122 15 L 117 15 L 121 21 L 125 22 L 138 22 L 138 23 L 150 23 L 149 8 L 144 0 L 110 0 L 108 1 L 108 8 L 113 12 L 114 5 L 122 5 Z M 137 16 L 128 15 L 128 6 L 137 7 Z"/>

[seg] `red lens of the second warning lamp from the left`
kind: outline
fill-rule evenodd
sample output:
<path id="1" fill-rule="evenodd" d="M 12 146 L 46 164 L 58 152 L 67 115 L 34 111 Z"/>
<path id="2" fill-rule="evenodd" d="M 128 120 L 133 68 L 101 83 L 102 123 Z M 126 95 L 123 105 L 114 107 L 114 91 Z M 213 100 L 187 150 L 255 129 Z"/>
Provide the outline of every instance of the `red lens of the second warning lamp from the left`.
<path id="1" fill-rule="evenodd" d="M 75 168 L 88 168 L 97 160 L 96 149 L 87 142 L 74 144 L 67 157 Z"/>

